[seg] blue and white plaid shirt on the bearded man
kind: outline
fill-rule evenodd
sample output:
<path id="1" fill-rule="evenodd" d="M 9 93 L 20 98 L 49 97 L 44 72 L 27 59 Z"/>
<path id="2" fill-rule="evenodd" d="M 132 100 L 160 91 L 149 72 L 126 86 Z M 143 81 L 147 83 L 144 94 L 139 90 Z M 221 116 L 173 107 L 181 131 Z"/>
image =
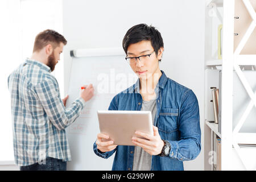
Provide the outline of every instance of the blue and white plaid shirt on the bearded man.
<path id="1" fill-rule="evenodd" d="M 65 127 L 79 117 L 85 101 L 80 97 L 65 109 L 51 69 L 27 59 L 8 78 L 18 166 L 42 162 L 47 156 L 71 160 Z"/>

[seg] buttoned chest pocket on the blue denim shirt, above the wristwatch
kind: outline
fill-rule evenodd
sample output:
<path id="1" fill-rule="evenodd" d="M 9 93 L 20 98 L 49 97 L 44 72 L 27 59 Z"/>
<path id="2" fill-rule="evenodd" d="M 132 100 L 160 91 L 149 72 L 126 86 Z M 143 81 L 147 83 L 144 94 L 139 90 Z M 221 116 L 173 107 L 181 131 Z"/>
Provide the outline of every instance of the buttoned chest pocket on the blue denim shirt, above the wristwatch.
<path id="1" fill-rule="evenodd" d="M 163 108 L 160 110 L 158 119 L 158 130 L 164 133 L 177 131 L 177 117 L 179 109 Z"/>

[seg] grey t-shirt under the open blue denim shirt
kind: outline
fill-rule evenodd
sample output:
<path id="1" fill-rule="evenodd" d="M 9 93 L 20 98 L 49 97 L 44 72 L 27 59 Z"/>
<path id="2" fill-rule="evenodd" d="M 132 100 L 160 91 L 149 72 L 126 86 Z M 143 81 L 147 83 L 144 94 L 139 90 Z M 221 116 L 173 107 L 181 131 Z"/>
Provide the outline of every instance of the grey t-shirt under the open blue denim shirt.
<path id="1" fill-rule="evenodd" d="M 155 100 L 142 101 L 141 110 L 151 111 L 152 122 L 154 124 L 156 114 L 156 102 Z M 133 159 L 133 171 L 150 171 L 151 169 L 152 155 L 143 150 L 142 147 L 135 146 L 134 159 Z"/>

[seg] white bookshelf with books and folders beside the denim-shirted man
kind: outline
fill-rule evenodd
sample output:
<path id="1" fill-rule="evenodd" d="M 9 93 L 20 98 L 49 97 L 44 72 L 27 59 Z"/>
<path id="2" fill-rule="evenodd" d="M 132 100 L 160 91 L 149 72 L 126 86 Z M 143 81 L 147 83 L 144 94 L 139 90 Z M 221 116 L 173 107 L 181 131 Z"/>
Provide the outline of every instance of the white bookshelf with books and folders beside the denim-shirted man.
<path id="1" fill-rule="evenodd" d="M 240 2 L 238 2 L 240 1 Z M 254 33 L 256 26 L 256 2 L 250 0 L 212 0 L 205 1 L 205 108 L 204 108 L 204 168 L 212 170 L 210 158 L 213 157 L 213 136 L 221 138 L 220 157 L 221 170 L 256 170 L 256 133 L 253 133 L 246 122 L 250 113 L 256 109 L 256 90 L 251 86 L 245 71 L 255 73 L 256 55 L 242 54 L 246 42 Z M 234 42 L 236 19 L 236 5 L 242 3 L 244 9 L 251 16 L 249 27 L 245 27 L 245 34 L 237 47 Z M 241 6 L 241 5 L 240 5 Z M 241 17 L 240 17 L 241 18 Z M 221 36 L 218 26 L 222 24 Z M 256 28 L 255 28 L 256 29 Z M 218 39 L 221 37 L 221 59 L 218 59 Z M 252 36 L 253 37 L 253 36 Z M 221 76 L 220 76 L 221 70 Z M 245 90 L 248 100 L 243 111 L 236 110 L 236 97 L 241 90 Z M 212 93 L 210 87 L 221 87 L 220 123 L 214 123 Z M 253 90 L 254 89 L 254 90 Z M 255 117 L 256 118 L 256 115 Z M 246 124 L 246 127 L 244 127 Z M 255 127 L 255 122 L 251 123 Z M 219 125 L 221 126 L 219 129 Z M 247 129 L 247 130 L 246 130 Z M 256 130 L 254 130 L 255 132 Z M 249 157 L 251 156 L 251 158 Z"/>

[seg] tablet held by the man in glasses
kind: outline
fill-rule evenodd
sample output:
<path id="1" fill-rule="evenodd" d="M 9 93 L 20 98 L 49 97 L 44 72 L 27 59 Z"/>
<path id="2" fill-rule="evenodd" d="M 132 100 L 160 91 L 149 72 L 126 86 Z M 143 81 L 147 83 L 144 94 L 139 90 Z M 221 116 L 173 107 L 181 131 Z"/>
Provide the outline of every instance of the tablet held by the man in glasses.
<path id="1" fill-rule="evenodd" d="M 109 135 L 114 144 L 134 146 L 135 131 L 153 135 L 151 111 L 98 110 L 97 114 L 100 132 Z"/>

